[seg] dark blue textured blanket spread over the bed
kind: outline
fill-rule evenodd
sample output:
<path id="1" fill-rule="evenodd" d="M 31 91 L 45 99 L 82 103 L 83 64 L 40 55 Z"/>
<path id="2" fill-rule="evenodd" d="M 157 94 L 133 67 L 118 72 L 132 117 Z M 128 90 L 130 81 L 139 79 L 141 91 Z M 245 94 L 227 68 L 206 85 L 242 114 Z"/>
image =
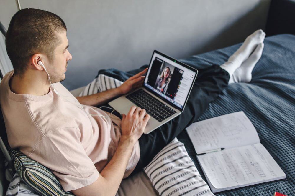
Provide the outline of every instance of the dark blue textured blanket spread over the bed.
<path id="1" fill-rule="evenodd" d="M 295 194 L 295 36 L 282 34 L 267 37 L 261 59 L 252 72 L 250 83 L 230 84 L 218 99 L 209 105 L 200 120 L 244 111 L 255 126 L 261 144 L 286 173 L 286 180 L 231 190 L 218 195 L 273 195 L 281 192 Z M 196 68 L 223 64 L 241 44 L 181 59 Z M 126 80 L 143 68 L 130 72 L 101 70 L 119 80 Z M 178 139 L 186 146 L 190 157 L 205 179 L 195 157 L 191 141 L 183 131 Z"/>

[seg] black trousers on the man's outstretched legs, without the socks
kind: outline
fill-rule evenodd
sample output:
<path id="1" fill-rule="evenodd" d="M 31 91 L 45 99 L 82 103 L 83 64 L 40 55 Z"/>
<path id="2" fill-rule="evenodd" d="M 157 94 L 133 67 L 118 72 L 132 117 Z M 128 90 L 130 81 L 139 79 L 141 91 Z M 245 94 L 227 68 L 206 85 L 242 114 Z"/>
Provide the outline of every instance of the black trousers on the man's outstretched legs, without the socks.
<path id="1" fill-rule="evenodd" d="M 230 76 L 218 65 L 199 70 L 184 111 L 176 118 L 163 124 L 139 139 L 140 160 L 133 173 L 140 171 L 169 142 L 201 116 L 208 104 L 227 87 Z"/>

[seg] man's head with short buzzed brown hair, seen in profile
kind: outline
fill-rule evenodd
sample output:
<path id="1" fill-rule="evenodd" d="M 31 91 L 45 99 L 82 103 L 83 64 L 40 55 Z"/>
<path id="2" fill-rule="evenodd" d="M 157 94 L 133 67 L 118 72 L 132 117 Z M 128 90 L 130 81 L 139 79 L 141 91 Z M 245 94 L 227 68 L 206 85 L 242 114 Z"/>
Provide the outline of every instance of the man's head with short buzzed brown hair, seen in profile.
<path id="1" fill-rule="evenodd" d="M 67 62 L 72 59 L 66 31 L 64 21 L 49 11 L 25 8 L 15 13 L 5 41 L 14 74 L 42 71 L 41 60 L 52 83 L 63 81 Z"/>

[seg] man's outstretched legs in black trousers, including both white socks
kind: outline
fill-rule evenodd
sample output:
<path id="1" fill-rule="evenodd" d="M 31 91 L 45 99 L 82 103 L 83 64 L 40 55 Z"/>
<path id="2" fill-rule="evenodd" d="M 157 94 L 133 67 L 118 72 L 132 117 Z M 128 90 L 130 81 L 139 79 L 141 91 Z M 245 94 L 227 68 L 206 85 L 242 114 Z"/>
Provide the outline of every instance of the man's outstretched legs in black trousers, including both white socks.
<path id="1" fill-rule="evenodd" d="M 220 67 L 213 65 L 199 70 L 184 111 L 153 132 L 139 139 L 140 160 L 132 174 L 148 165 L 155 155 L 169 142 L 201 116 L 210 102 L 216 99 L 227 84 L 250 82 L 249 77 L 256 62 L 260 59 L 265 33 L 257 30 L 248 36 L 242 46 Z M 236 71 L 236 72 L 235 72 Z"/>

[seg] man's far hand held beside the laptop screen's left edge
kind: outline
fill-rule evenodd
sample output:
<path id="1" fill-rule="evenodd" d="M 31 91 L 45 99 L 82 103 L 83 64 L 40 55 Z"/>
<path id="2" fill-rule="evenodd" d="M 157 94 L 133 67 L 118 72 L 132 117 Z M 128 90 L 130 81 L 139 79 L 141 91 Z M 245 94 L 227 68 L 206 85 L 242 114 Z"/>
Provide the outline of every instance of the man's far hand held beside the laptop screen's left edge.
<path id="1" fill-rule="evenodd" d="M 136 89 L 142 86 L 143 81 L 145 80 L 145 76 L 142 76 L 148 71 L 148 68 L 139 72 L 138 74 L 127 79 L 121 86 L 119 86 L 119 90 L 122 94 L 126 94 L 130 92 L 132 89 Z"/>

